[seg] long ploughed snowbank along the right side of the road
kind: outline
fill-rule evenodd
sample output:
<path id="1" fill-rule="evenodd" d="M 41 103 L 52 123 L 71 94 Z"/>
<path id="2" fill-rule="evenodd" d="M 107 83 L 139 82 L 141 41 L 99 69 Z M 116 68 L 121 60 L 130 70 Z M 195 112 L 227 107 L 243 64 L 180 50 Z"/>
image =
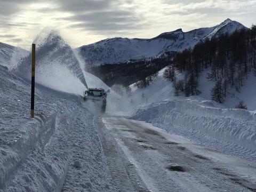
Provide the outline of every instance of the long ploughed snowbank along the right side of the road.
<path id="1" fill-rule="evenodd" d="M 133 118 L 206 146 L 256 160 L 256 113 L 227 109 L 199 97 L 172 97 L 139 109 Z"/>

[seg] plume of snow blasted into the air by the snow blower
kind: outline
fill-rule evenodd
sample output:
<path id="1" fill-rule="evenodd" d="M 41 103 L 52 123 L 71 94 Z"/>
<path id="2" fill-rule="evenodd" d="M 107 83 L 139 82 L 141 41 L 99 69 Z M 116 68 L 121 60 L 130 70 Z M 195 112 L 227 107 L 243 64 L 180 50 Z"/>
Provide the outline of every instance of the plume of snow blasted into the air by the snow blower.
<path id="1" fill-rule="evenodd" d="M 35 44 L 36 76 L 44 77 L 39 79 L 41 82 L 38 83 L 54 84 L 54 82 L 59 81 L 59 84 L 65 84 L 66 81 L 67 86 L 67 83 L 70 83 L 67 81 L 67 76 L 69 76 L 74 81 L 78 78 L 81 81 L 79 84 L 82 83 L 87 86 L 80 63 L 73 50 L 56 31 L 41 33 L 36 37 Z M 17 73 L 22 77 L 30 78 L 30 70 L 31 52 L 19 62 Z M 63 74 L 65 75 L 63 76 Z"/>

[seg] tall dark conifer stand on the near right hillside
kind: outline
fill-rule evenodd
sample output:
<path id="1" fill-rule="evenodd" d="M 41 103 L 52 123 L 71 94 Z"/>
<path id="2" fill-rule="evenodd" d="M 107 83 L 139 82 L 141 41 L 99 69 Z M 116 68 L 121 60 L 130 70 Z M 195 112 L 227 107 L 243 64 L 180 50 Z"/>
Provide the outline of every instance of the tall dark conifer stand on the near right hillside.
<path id="1" fill-rule="evenodd" d="M 240 91 L 248 75 L 256 69 L 256 26 L 249 30 L 222 34 L 218 38 L 206 39 L 177 54 L 171 65 L 164 71 L 164 77 L 173 82 L 175 94 L 197 95 L 198 77 L 207 68 L 208 81 L 215 82 L 212 100 L 222 103 L 230 89 Z M 177 81 L 174 71 L 184 73 Z"/>

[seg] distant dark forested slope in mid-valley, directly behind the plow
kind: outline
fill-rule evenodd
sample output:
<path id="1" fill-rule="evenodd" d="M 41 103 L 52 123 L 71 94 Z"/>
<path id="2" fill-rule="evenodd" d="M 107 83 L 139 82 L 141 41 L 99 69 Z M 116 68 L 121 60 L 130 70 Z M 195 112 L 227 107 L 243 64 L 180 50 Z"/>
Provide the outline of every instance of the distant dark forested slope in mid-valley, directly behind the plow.
<path id="1" fill-rule="evenodd" d="M 86 66 L 86 70 L 99 77 L 108 86 L 121 84 L 128 86 L 138 82 L 138 87 L 145 87 L 157 76 L 157 71 L 171 64 L 177 52 L 166 52 L 161 57 L 131 60 L 129 62 Z"/>

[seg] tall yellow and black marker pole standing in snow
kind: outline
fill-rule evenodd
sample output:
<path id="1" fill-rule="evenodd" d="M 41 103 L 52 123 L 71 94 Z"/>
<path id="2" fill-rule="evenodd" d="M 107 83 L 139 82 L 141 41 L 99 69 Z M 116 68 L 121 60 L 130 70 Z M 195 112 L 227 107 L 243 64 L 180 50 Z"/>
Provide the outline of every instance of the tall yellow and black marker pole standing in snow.
<path id="1" fill-rule="evenodd" d="M 32 118 L 34 118 L 34 106 L 35 106 L 35 68 L 36 68 L 36 44 L 32 44 L 31 112 L 30 112 L 30 115 Z"/>

